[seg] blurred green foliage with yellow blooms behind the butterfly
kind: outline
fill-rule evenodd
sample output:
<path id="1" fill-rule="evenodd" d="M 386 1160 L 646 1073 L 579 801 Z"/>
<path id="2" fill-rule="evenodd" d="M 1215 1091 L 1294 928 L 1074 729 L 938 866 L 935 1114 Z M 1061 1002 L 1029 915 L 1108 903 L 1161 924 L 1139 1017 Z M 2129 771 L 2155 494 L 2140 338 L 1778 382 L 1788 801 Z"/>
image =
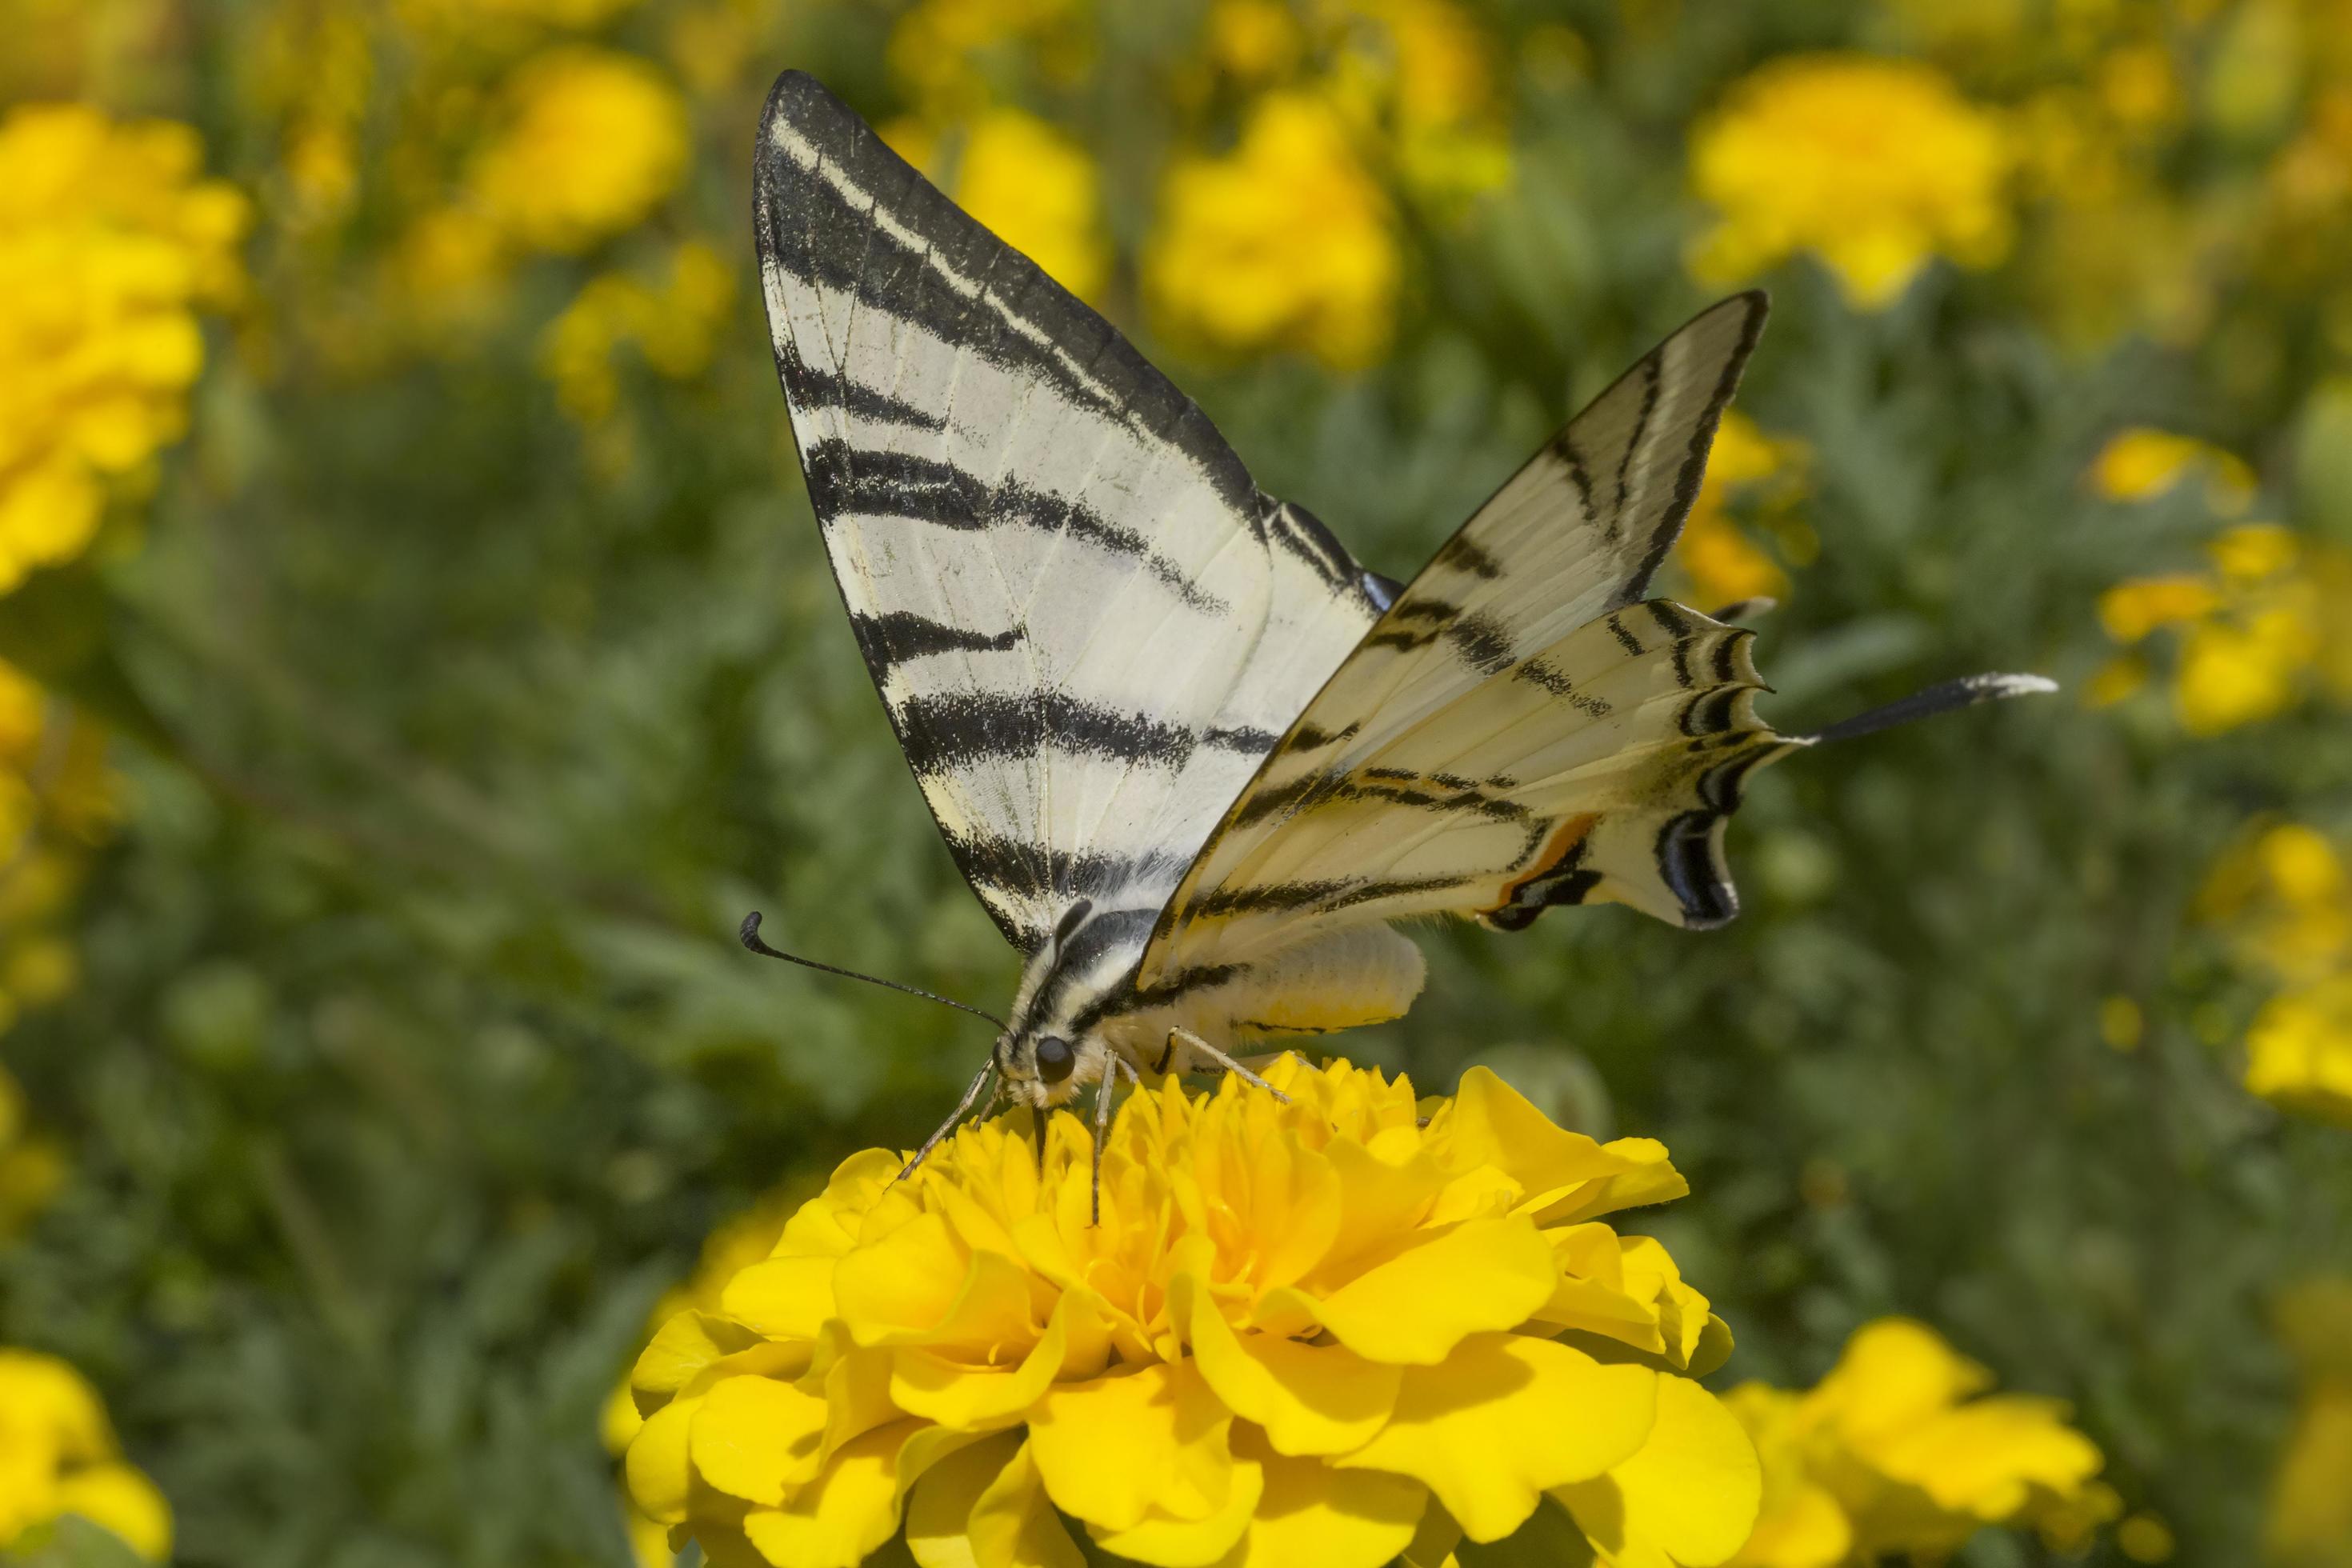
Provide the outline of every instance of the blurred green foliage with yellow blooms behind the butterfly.
<path id="1" fill-rule="evenodd" d="M 1343 1046 L 1663 1138 L 1724 1382 L 1912 1314 L 2072 1401 L 2176 1561 L 2352 1561 L 2352 1324 L 2274 1333 L 2352 1272 L 2336 0 L 0 0 L 0 1345 L 103 1392 L 181 1561 L 626 1563 L 597 1420 L 661 1291 L 985 1048 L 736 922 L 1009 994 L 769 367 L 783 66 L 1392 576 L 1766 282 L 1670 588 L 1780 597 L 1783 729 L 2067 691 L 1764 776 L 1729 931 L 1425 929 L 1423 1001 Z M 2091 1556 L 2126 1544 L 2166 1547 Z"/>

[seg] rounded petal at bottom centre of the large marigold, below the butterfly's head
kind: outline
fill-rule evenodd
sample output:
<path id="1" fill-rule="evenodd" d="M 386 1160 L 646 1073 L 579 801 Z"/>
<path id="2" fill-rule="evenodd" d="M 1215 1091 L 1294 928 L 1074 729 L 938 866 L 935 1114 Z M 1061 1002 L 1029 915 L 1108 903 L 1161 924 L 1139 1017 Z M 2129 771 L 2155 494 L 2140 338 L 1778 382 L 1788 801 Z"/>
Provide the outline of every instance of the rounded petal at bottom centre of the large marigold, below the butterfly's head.
<path id="1" fill-rule="evenodd" d="M 1192 1361 L 1160 1361 L 1056 1385 L 1030 1413 L 1030 1453 L 1061 1512 L 1127 1530 L 1152 1509 L 1216 1514 L 1232 1486 L 1230 1427 Z"/>

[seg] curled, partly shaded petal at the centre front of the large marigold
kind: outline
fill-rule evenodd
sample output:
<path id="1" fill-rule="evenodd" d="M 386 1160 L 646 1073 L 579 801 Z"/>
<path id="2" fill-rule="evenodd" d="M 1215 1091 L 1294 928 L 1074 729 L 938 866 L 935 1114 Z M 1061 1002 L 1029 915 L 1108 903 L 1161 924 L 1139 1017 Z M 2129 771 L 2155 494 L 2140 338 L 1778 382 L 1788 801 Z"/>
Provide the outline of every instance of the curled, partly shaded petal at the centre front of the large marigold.
<path id="1" fill-rule="evenodd" d="M 1176 1279 L 1171 1312 L 1188 1326 L 1192 1359 L 1225 1406 L 1265 1427 L 1277 1453 L 1348 1453 L 1371 1441 L 1397 1403 L 1404 1368 L 1367 1361 L 1345 1345 L 1303 1345 L 1235 1333 L 1197 1276 Z"/>

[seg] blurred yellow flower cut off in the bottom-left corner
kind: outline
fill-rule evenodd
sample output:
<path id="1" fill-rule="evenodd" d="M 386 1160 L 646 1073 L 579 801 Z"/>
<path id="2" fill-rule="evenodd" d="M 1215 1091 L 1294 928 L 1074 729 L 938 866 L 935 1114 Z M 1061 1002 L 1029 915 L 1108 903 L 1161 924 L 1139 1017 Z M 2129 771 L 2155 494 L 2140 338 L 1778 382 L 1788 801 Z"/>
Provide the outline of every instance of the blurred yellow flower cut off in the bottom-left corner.
<path id="1" fill-rule="evenodd" d="M 172 1509 L 122 1462 L 96 1392 L 56 1356 L 0 1349 L 0 1552 L 68 1514 L 148 1561 L 172 1554 Z"/>

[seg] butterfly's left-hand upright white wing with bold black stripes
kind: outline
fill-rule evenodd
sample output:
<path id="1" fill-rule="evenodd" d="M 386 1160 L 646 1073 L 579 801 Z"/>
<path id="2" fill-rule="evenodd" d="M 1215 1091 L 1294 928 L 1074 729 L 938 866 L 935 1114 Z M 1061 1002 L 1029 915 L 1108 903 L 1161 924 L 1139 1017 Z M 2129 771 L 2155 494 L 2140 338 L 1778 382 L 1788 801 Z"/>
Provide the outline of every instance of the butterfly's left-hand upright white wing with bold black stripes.
<path id="1" fill-rule="evenodd" d="M 1021 950 L 1084 898 L 1131 964 L 1378 614 L 1362 569 L 800 73 L 762 118 L 755 223 L 809 498 L 948 849 Z"/>

